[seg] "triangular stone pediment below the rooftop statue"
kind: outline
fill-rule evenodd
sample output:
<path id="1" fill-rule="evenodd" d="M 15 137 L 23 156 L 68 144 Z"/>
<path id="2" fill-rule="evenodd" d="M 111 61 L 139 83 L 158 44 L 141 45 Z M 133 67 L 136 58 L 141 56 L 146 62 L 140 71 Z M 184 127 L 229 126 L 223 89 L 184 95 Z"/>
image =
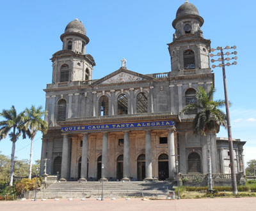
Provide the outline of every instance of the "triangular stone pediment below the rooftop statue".
<path id="1" fill-rule="evenodd" d="M 124 82 L 138 82 L 141 80 L 151 80 L 152 77 L 143 75 L 140 73 L 136 73 L 134 71 L 120 68 L 117 71 L 105 76 L 104 78 L 100 78 L 93 84 L 116 84 L 116 83 L 124 83 Z"/>

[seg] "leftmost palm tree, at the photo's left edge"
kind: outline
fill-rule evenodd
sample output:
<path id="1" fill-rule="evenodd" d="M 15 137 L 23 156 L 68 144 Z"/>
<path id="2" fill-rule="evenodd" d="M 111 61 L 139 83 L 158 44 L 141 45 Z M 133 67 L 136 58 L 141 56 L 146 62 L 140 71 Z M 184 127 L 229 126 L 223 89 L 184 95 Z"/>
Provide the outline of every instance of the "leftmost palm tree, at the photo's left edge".
<path id="1" fill-rule="evenodd" d="M 17 111 L 14 106 L 10 110 L 3 109 L 0 113 L 4 120 L 0 122 L 0 140 L 10 136 L 12 142 L 12 156 L 11 156 L 11 171 L 10 171 L 10 186 L 13 185 L 13 173 L 14 173 L 14 154 L 15 154 L 15 143 L 19 136 L 22 134 L 22 138 L 26 138 L 24 131 L 24 112 L 17 115 Z"/>

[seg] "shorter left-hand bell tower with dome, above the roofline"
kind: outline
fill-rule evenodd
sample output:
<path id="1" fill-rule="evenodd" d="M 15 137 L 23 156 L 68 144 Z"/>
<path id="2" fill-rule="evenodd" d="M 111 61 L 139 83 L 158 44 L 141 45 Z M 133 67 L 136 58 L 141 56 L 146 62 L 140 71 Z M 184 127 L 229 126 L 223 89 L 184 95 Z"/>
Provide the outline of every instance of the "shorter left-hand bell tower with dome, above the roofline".
<path id="1" fill-rule="evenodd" d="M 78 19 L 70 22 L 60 36 L 62 50 L 52 55 L 52 84 L 92 80 L 95 61 L 85 54 L 89 38 Z"/>

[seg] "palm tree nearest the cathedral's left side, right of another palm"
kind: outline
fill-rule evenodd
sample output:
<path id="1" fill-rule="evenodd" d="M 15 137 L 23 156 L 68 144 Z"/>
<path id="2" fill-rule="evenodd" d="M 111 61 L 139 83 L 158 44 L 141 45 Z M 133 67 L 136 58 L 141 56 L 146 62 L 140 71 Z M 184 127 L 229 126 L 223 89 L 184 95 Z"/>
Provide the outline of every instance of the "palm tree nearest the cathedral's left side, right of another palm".
<path id="1" fill-rule="evenodd" d="M 31 149 L 30 149 L 30 161 L 29 161 L 29 179 L 31 179 L 32 173 L 32 157 L 33 157 L 33 144 L 34 138 L 38 131 L 41 131 L 43 134 L 47 133 L 47 122 L 42 120 L 42 116 L 46 114 L 46 112 L 42 111 L 42 106 L 35 108 L 35 106 L 31 106 L 30 109 L 26 108 L 26 124 L 25 129 L 29 138 L 31 139 Z"/>

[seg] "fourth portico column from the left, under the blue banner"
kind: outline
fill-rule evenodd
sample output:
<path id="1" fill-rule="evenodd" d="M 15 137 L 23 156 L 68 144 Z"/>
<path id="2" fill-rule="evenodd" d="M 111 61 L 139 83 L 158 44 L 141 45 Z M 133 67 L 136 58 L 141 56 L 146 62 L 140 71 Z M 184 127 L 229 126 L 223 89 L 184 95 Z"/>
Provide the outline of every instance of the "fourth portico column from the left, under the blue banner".
<path id="1" fill-rule="evenodd" d="M 129 131 L 124 132 L 124 178 L 123 180 L 130 181 L 130 141 Z"/>

